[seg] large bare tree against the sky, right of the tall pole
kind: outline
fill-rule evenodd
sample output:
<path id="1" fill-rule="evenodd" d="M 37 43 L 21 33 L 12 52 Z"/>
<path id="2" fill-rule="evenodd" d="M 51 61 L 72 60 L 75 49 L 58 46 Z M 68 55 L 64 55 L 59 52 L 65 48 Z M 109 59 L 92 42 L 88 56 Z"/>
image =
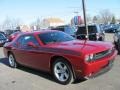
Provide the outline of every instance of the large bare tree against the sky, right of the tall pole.
<path id="1" fill-rule="evenodd" d="M 112 17 L 113 17 L 113 13 L 111 13 L 109 10 L 100 11 L 101 23 L 105 23 L 105 24 L 110 23 Z"/>

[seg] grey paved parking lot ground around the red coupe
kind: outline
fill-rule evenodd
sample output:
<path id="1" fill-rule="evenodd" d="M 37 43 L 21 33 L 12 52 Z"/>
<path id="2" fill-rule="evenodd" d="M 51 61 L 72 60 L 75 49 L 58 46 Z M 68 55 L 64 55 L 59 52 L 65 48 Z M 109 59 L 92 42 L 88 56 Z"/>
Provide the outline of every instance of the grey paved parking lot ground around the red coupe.
<path id="1" fill-rule="evenodd" d="M 113 42 L 113 35 L 107 34 L 106 41 Z M 51 75 L 26 67 L 12 69 L 0 48 L 0 90 L 120 90 L 120 56 L 113 68 L 96 78 L 69 85 L 55 82 Z"/>

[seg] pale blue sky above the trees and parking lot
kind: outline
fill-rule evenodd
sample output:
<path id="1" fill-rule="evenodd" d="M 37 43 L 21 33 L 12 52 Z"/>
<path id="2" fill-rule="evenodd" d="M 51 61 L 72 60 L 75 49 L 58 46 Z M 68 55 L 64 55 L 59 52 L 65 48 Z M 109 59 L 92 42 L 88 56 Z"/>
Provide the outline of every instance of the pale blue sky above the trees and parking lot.
<path id="1" fill-rule="evenodd" d="M 79 11 L 82 15 L 82 0 L 0 0 L 0 22 L 6 17 L 19 18 L 30 23 L 40 17 L 59 17 L 66 22 Z M 120 17 L 120 0 L 86 0 L 87 13 L 91 16 L 109 9 Z"/>

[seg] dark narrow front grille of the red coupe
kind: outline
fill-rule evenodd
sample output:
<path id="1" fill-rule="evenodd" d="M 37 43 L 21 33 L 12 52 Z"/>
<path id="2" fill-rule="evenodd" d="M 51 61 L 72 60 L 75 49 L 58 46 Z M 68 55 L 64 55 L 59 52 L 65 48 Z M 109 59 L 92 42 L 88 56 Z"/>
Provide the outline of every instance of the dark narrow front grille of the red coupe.
<path id="1" fill-rule="evenodd" d="M 101 58 L 103 58 L 103 57 L 106 57 L 106 56 L 110 55 L 111 53 L 113 53 L 114 50 L 115 50 L 115 49 L 112 48 L 112 49 L 109 49 L 109 50 L 105 50 L 105 51 L 96 53 L 96 54 L 94 55 L 94 60 L 98 60 L 98 59 L 101 59 Z"/>

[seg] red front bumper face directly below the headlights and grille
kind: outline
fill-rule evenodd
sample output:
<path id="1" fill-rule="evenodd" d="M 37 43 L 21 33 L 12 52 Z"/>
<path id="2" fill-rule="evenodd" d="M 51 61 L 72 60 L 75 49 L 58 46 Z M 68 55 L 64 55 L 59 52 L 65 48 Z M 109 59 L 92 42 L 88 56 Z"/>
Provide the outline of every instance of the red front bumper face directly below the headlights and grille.
<path id="1" fill-rule="evenodd" d="M 116 55 L 117 51 L 115 50 L 111 55 L 108 55 L 101 60 L 87 64 L 84 70 L 84 76 L 90 77 L 99 72 L 106 71 L 105 69 L 112 67 L 111 63 L 113 64 Z"/>

